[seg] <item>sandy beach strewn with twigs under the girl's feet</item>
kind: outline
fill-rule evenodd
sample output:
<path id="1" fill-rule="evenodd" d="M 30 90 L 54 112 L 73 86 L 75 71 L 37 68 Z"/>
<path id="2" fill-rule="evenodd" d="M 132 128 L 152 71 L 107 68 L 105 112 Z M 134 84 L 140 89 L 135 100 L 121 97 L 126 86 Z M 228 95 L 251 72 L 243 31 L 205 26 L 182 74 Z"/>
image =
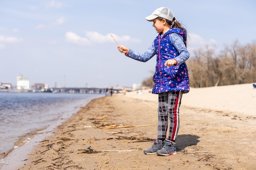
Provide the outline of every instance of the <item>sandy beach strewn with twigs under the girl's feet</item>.
<path id="1" fill-rule="evenodd" d="M 157 95 L 101 97 L 37 141 L 8 170 L 255 170 L 256 89 L 191 88 L 180 108 L 177 154 L 145 155 L 157 137 Z M 4 169 L 7 170 L 7 169 Z"/>

